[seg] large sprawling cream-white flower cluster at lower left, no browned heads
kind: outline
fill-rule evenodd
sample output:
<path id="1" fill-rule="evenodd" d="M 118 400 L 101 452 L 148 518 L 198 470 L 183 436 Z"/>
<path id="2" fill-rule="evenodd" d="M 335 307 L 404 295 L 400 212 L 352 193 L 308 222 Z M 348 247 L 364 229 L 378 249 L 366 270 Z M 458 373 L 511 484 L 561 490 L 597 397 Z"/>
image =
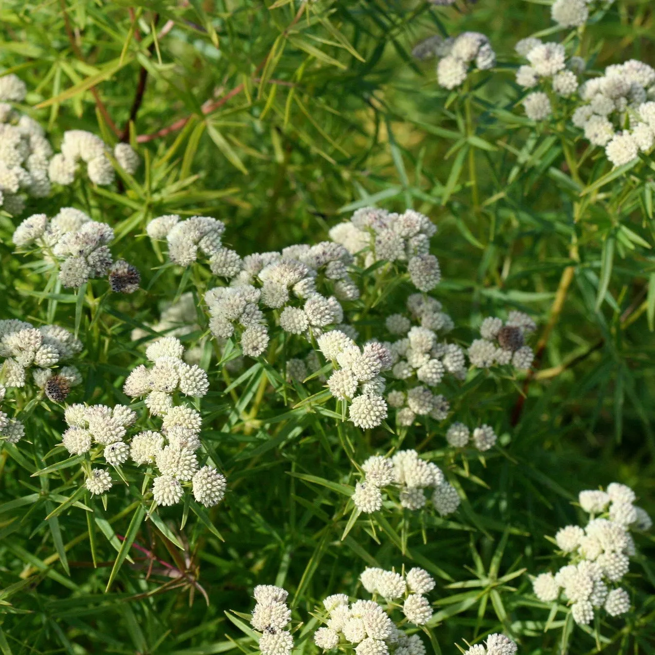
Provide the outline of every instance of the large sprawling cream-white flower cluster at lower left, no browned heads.
<path id="1" fill-rule="evenodd" d="M 127 440 L 127 428 L 137 420 L 132 409 L 124 405 L 110 408 L 76 404 L 65 410 L 69 429 L 62 435 L 64 447 L 71 455 L 90 453 L 91 462 L 102 456 L 121 477 L 120 467 L 128 460 L 147 466 L 147 477 L 155 467 L 152 491 L 157 505 L 176 504 L 185 489 L 190 489 L 197 502 L 212 507 L 225 496 L 225 477 L 212 466 L 201 467 L 198 463 L 196 451 L 202 445 L 200 414 L 193 407 L 173 404 L 176 391 L 204 396 L 209 386 L 207 375 L 197 365 L 182 360 L 183 346 L 175 337 L 151 343 L 146 354 L 153 366 L 134 369 L 125 381 L 124 391 L 132 397 L 147 394 L 145 405 L 151 415 L 162 417 L 160 432 L 143 430 Z M 89 468 L 86 473 L 86 487 L 91 493 L 103 494 L 111 489 L 112 479 L 106 470 Z"/>

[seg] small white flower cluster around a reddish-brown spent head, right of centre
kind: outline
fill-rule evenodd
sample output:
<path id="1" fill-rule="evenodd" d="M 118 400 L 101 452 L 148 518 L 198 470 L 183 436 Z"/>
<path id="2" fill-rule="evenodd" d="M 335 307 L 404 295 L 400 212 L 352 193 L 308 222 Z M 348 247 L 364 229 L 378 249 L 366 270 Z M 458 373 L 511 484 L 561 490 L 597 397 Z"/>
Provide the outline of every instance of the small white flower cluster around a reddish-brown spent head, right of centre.
<path id="1" fill-rule="evenodd" d="M 489 316 L 480 326 L 482 338 L 468 347 L 468 358 L 476 368 L 512 364 L 517 369 L 529 369 L 534 352 L 525 345 L 525 335 L 535 329 L 534 321 L 523 312 L 511 311 L 504 323 Z"/>

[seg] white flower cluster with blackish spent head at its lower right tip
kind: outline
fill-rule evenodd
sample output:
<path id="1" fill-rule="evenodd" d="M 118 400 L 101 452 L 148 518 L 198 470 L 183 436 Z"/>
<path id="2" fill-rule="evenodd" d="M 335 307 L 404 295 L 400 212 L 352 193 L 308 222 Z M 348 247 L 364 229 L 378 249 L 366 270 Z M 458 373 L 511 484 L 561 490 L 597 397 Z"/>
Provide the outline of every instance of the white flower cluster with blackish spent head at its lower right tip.
<path id="1" fill-rule="evenodd" d="M 121 290 L 127 291 L 126 285 L 134 284 L 135 272 L 138 286 L 138 271 L 125 262 L 112 269 L 113 258 L 107 244 L 113 238 L 114 231 L 107 223 L 92 221 L 72 207 L 62 208 L 51 219 L 45 214 L 31 215 L 18 225 L 13 236 L 18 248 L 39 248 L 46 261 L 58 262 L 59 279 L 65 287 L 77 288 L 90 278 L 113 274 L 116 279 L 124 278 Z"/>

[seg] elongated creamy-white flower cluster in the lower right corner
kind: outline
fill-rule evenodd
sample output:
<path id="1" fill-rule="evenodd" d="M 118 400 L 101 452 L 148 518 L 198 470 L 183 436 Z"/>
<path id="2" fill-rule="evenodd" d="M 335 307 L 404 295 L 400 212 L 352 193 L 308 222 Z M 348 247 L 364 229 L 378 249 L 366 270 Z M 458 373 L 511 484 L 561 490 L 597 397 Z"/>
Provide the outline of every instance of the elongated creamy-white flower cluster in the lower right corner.
<path id="1" fill-rule="evenodd" d="M 567 525 L 555 534 L 569 563 L 555 575 L 548 572 L 534 578 L 534 594 L 540 601 L 552 603 L 563 593 L 573 620 L 582 626 L 591 623 L 600 608 L 610 616 L 629 610 L 629 594 L 618 586 L 629 569 L 629 557 L 635 554 L 629 530 L 652 526 L 648 514 L 634 505 L 635 499 L 632 489 L 618 482 L 608 485 L 607 491 L 580 492 L 578 501 L 591 520 L 584 528 Z"/>

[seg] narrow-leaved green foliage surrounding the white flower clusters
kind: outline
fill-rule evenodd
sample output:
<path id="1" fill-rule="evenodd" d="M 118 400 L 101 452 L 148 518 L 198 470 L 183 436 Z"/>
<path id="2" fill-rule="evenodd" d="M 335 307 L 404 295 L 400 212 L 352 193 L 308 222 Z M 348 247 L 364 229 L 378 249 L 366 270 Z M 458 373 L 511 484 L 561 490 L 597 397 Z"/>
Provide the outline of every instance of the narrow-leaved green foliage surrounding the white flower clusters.
<path id="1" fill-rule="evenodd" d="M 116 553 L 96 534 L 93 567 L 81 510 L 60 517 L 67 553 L 62 565 L 44 517 L 62 502 L 58 485 L 71 489 L 70 481 L 29 477 L 48 447 L 23 451 L 26 461 L 21 451 L 5 447 L 3 653 L 250 652 L 252 643 L 224 612 L 248 612 L 255 584 L 290 589 L 297 618 L 312 622 L 310 612 L 326 590 L 352 591 L 365 565 L 412 561 L 438 570 L 432 629 L 443 652 L 493 630 L 512 633 L 521 652 L 559 652 L 561 631 L 543 633 L 547 610 L 530 597 L 527 576 L 512 574 L 548 567 L 552 546 L 544 534 L 578 517 L 571 501 L 580 489 L 616 479 L 655 513 L 655 183 L 652 161 L 607 183 L 609 167 L 597 153 L 578 170 L 579 139 L 566 128 L 534 128 L 515 109 L 521 92 L 514 84 L 514 43 L 537 32 L 561 36 L 546 5 L 0 3 L 0 65 L 26 81 L 25 111 L 47 124 L 54 143 L 73 128 L 114 143 L 109 117 L 118 132 L 127 130 L 145 160 L 118 189 L 78 182 L 25 213 L 52 215 L 67 205 L 87 210 L 115 228 L 118 250 L 143 275 L 143 290 L 134 297 L 102 307 L 96 298 L 84 307 L 86 386 L 71 400 L 124 401 L 122 377 L 141 356 L 132 328 L 155 320 L 158 303 L 183 290 L 171 267 L 160 268 L 164 259 L 145 236 L 147 221 L 160 214 L 217 217 L 227 224 L 225 242 L 245 254 L 314 242 L 360 206 L 413 206 L 439 226 L 433 252 L 444 280 L 436 296 L 455 318 L 458 338 L 470 341 L 481 317 L 510 308 L 529 311 L 546 336 L 520 415 L 522 381 L 509 400 L 498 392 L 498 381 L 477 392 L 476 405 L 493 414 L 504 447 L 487 458 L 487 472 L 472 462 L 488 488 L 466 481 L 470 502 L 456 518 L 425 525 L 425 542 L 421 527 L 412 524 L 404 555 L 389 534 L 373 534 L 365 523 L 341 540 L 347 515 L 339 487 L 298 477 L 354 484 L 329 419 L 293 417 L 280 429 L 271 419 L 286 408 L 276 398 L 263 407 L 255 401 L 252 424 L 235 421 L 235 394 L 225 393 L 215 362 L 203 434 L 229 481 L 225 503 L 211 512 L 225 542 L 195 517 L 180 533 L 186 555 L 151 524 L 137 538 L 184 571 L 179 580 L 157 562 L 147 575 L 148 561 L 132 549 L 134 562 L 124 563 L 105 593 Z M 155 25 L 158 31 L 170 26 L 156 41 Z M 465 29 L 489 36 L 498 64 L 455 97 L 437 86 L 433 62 L 413 60 L 410 52 L 424 37 Z M 574 38 L 589 67 L 601 70 L 630 57 L 654 64 L 654 33 L 651 2 L 617 0 Z M 140 79 L 145 94 L 130 122 Z M 206 102 L 217 105 L 214 111 L 203 113 Z M 188 119 L 181 129 L 157 136 L 179 119 Z M 17 224 L 0 217 L 0 317 L 41 320 L 43 280 L 12 253 Z M 558 290 L 561 312 L 553 311 Z M 74 326 L 75 297 L 58 299 L 55 316 Z M 551 318 L 552 329 L 544 332 Z M 364 326 L 364 334 L 371 328 Z M 255 371 L 235 388 L 249 411 L 262 379 L 263 370 Z M 478 407 L 469 408 L 472 417 Z M 63 422 L 61 413 L 48 414 L 51 409 L 39 408 L 41 434 L 29 441 L 56 443 Z M 384 433 L 370 438 L 356 444 L 359 453 L 386 445 Z M 102 515 L 117 533 L 128 531 L 130 502 L 127 492 L 109 495 Z M 102 512 L 100 502 L 96 512 Z M 608 637 L 601 650 L 653 650 L 652 537 L 640 546 L 643 555 L 631 570 L 640 589 L 636 611 L 625 627 L 617 620 L 601 629 Z M 467 580 L 477 582 L 462 584 Z M 580 629 L 567 642 L 574 652 L 597 649 Z M 306 640 L 299 648 L 313 646 Z"/>

